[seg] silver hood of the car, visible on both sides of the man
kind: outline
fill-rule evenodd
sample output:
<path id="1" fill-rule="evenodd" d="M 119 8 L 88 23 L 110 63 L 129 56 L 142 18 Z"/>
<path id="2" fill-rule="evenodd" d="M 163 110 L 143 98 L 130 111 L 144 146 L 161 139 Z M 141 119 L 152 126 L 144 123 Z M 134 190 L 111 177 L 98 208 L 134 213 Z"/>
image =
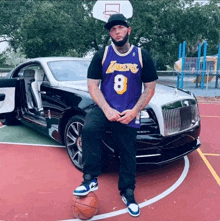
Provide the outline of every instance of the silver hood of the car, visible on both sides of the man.
<path id="1" fill-rule="evenodd" d="M 87 81 L 59 82 L 59 86 L 88 92 Z M 188 94 L 184 91 L 178 90 L 177 88 L 157 84 L 155 95 L 151 99 L 150 104 L 162 106 L 164 104 L 168 104 L 178 100 L 190 98 L 194 99 L 194 96 L 192 94 Z"/>

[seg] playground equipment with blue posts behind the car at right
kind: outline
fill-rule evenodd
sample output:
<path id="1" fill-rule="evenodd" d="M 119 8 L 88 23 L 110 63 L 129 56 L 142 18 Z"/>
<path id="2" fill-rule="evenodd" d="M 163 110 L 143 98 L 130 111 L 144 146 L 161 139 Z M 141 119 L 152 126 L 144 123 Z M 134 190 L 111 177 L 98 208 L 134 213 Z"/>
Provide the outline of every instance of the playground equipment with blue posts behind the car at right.
<path id="1" fill-rule="evenodd" d="M 218 88 L 218 78 L 220 78 L 220 44 L 218 55 L 207 56 L 207 42 L 204 42 L 204 52 L 201 57 L 202 45 L 198 45 L 198 57 L 186 57 L 186 42 L 179 44 L 179 60 L 175 62 L 174 69 L 177 71 L 177 88 L 183 88 L 185 75 L 194 75 L 193 83 L 196 87 L 204 89 L 204 83 L 208 83 L 215 77 L 215 88 Z"/>

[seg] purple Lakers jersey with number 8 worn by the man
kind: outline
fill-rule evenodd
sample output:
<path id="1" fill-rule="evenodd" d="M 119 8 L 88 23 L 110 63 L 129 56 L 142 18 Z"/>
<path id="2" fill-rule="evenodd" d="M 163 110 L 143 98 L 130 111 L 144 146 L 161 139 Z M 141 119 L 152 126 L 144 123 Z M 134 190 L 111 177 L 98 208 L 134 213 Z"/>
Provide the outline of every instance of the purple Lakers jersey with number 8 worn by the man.
<path id="1" fill-rule="evenodd" d="M 108 104 L 119 112 L 132 109 L 141 96 L 142 58 L 140 48 L 131 46 L 120 54 L 114 45 L 106 47 L 102 61 L 101 91 Z M 139 116 L 128 126 L 139 128 Z"/>

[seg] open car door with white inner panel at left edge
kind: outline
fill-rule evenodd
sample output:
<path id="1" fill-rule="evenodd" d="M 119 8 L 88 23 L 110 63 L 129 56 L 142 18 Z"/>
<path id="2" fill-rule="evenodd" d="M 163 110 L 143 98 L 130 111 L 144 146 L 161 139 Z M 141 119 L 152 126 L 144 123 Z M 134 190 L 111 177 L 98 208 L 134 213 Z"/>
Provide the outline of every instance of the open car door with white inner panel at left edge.
<path id="1" fill-rule="evenodd" d="M 0 119 L 16 117 L 16 93 L 18 92 L 18 79 L 0 79 Z"/>

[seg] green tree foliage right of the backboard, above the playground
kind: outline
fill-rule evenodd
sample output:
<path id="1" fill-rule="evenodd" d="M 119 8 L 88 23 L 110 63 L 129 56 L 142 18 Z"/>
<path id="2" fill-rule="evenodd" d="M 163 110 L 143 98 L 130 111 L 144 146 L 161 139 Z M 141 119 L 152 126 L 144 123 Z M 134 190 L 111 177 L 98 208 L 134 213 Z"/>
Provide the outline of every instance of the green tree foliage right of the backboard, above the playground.
<path id="1" fill-rule="evenodd" d="M 204 6 L 179 0 L 132 1 L 132 4 L 134 43 L 148 49 L 162 67 L 173 66 L 178 45 L 183 41 L 187 42 L 188 56 L 196 56 L 198 43 L 204 40 L 209 43 L 208 52 L 217 53 L 220 11 L 216 1 Z"/>

